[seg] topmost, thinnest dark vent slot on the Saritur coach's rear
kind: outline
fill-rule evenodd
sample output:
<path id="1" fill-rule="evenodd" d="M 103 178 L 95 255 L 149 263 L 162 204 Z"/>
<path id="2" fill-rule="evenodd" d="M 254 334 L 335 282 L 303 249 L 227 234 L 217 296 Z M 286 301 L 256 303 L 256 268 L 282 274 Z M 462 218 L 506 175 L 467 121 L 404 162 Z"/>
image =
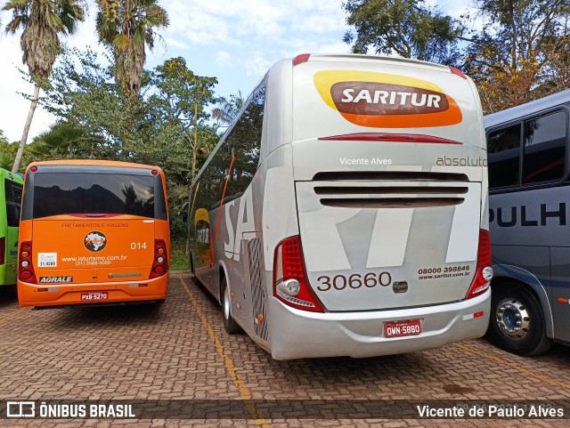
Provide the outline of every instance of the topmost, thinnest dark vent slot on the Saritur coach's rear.
<path id="1" fill-rule="evenodd" d="M 314 174 L 315 182 L 468 182 L 466 174 L 413 171 L 338 171 Z"/>

